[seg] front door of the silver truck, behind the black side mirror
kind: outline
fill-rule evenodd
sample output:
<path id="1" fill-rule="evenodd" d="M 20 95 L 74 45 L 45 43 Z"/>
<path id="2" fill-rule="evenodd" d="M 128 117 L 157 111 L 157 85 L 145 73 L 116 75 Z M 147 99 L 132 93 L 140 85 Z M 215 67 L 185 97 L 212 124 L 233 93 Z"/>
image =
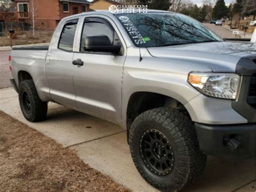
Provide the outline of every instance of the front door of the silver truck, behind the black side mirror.
<path id="1" fill-rule="evenodd" d="M 124 45 L 124 43 L 121 42 L 120 34 L 118 35 L 117 29 L 107 17 L 87 16 L 82 24 L 80 50 L 73 58 L 73 83 L 77 109 L 120 123 L 125 54 L 89 51 L 85 49 L 84 44 L 85 38 L 91 36 L 107 36 L 112 45 Z M 122 49 L 124 48 L 123 46 Z"/>

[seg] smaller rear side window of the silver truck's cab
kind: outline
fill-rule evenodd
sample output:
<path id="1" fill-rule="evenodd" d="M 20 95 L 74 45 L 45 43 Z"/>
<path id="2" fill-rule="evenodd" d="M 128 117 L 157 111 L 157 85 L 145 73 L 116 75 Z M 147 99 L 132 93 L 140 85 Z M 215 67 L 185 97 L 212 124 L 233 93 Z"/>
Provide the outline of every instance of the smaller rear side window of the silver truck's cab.
<path id="1" fill-rule="evenodd" d="M 67 22 L 64 25 L 62 34 L 60 35 L 58 48 L 65 51 L 73 50 L 73 42 L 77 29 L 78 19 Z"/>

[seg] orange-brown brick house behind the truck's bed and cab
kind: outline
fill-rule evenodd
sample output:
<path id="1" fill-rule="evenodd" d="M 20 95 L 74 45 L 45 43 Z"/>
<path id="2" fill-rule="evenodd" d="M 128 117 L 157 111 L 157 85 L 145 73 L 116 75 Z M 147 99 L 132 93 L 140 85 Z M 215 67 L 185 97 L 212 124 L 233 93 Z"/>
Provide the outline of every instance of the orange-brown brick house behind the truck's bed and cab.
<path id="1" fill-rule="evenodd" d="M 14 11 L 0 12 L 0 33 L 9 28 L 16 30 L 22 28 L 24 30 L 24 26 L 26 29 L 31 28 L 33 13 L 35 29 L 54 29 L 62 18 L 90 11 L 90 2 L 86 0 L 11 1 L 15 5 Z"/>

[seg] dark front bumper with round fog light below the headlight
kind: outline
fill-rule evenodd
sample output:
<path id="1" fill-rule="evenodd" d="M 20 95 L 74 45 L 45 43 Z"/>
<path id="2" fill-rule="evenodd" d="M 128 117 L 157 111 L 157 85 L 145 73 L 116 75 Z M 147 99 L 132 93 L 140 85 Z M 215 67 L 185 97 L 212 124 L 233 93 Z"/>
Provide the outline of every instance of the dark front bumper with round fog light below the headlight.
<path id="1" fill-rule="evenodd" d="M 195 123 L 200 150 L 223 157 L 255 157 L 256 124 L 205 125 Z"/>

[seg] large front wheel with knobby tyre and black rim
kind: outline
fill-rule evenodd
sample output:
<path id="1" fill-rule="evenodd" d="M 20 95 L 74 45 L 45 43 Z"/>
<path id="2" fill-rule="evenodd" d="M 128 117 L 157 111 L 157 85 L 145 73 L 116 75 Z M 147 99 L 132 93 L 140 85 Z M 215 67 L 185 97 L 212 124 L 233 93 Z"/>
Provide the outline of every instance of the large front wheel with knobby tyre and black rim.
<path id="1" fill-rule="evenodd" d="M 172 108 L 146 111 L 129 134 L 133 162 L 142 177 L 159 190 L 181 190 L 196 181 L 206 164 L 187 112 Z"/>

